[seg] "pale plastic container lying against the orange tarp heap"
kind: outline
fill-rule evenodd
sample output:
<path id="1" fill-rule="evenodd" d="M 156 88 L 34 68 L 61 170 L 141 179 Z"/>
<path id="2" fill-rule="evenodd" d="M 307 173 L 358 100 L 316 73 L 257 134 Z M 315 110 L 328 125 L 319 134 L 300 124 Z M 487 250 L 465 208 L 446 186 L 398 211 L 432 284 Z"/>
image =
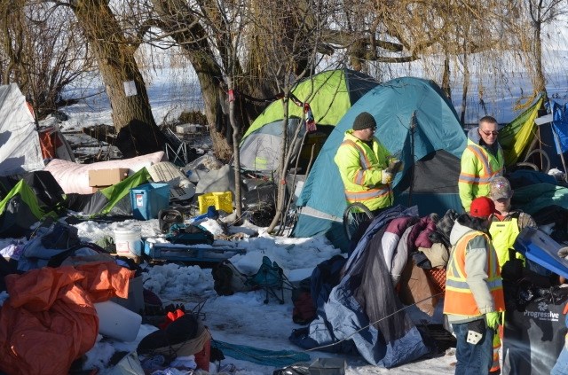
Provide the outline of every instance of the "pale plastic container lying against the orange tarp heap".
<path id="1" fill-rule="evenodd" d="M 114 340 L 136 340 L 142 316 L 112 301 L 94 304 L 99 316 L 99 333 Z"/>

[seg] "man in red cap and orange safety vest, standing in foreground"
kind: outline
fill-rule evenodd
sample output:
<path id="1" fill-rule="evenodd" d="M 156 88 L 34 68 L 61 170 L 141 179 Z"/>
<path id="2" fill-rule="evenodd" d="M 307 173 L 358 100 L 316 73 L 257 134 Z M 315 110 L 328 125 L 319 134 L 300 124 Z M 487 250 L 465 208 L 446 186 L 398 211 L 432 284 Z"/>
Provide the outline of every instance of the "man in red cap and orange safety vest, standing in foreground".
<path id="1" fill-rule="evenodd" d="M 493 366 L 493 337 L 505 310 L 497 254 L 487 233 L 494 210 L 493 200 L 473 199 L 450 232 L 444 314 L 457 340 L 456 375 L 487 374 Z"/>

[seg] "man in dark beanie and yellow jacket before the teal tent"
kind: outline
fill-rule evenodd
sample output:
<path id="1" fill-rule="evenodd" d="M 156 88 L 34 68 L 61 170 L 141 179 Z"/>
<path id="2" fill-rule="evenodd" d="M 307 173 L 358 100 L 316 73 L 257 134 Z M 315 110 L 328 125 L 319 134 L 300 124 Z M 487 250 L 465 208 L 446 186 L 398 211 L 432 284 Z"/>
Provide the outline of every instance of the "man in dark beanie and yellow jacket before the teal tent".
<path id="1" fill-rule="evenodd" d="M 347 204 L 363 203 L 376 215 L 392 206 L 390 184 L 399 161 L 390 158 L 389 151 L 375 137 L 375 130 L 373 115 L 359 113 L 352 129 L 345 132 L 334 161 L 343 181 Z M 397 168 L 390 168 L 397 163 Z"/>

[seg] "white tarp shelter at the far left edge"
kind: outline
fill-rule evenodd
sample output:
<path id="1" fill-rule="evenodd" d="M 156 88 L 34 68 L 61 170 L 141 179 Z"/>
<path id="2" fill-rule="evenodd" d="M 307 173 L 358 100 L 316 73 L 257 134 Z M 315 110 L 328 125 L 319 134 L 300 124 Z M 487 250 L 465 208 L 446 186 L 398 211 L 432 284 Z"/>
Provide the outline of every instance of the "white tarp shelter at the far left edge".
<path id="1" fill-rule="evenodd" d="M 43 169 L 36 122 L 18 85 L 0 86 L 0 176 Z"/>

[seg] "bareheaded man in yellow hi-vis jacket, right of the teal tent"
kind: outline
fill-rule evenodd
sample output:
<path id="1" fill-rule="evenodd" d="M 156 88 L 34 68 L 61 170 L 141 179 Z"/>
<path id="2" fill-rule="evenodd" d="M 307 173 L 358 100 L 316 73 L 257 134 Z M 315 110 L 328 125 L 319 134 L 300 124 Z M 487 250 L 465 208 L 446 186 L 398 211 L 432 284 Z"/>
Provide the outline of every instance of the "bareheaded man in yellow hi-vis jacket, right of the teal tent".
<path id="1" fill-rule="evenodd" d="M 505 158 L 497 142 L 499 125 L 491 116 L 482 117 L 479 126 L 468 132 L 468 145 L 461 154 L 458 180 L 461 206 L 469 212 L 471 201 L 489 194 L 489 183 L 494 176 L 502 176 Z"/>

